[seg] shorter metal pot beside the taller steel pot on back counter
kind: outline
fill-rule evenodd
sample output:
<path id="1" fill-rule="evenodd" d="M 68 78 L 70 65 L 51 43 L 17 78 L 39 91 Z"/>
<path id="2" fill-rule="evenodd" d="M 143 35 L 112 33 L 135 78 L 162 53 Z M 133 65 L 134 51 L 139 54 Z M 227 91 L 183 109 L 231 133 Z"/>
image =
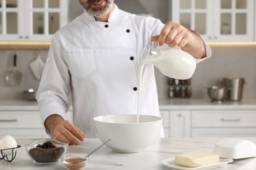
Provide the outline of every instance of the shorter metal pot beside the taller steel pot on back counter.
<path id="1" fill-rule="evenodd" d="M 228 89 L 225 86 L 211 86 L 207 88 L 207 92 L 212 101 L 224 101 L 228 95 Z"/>

